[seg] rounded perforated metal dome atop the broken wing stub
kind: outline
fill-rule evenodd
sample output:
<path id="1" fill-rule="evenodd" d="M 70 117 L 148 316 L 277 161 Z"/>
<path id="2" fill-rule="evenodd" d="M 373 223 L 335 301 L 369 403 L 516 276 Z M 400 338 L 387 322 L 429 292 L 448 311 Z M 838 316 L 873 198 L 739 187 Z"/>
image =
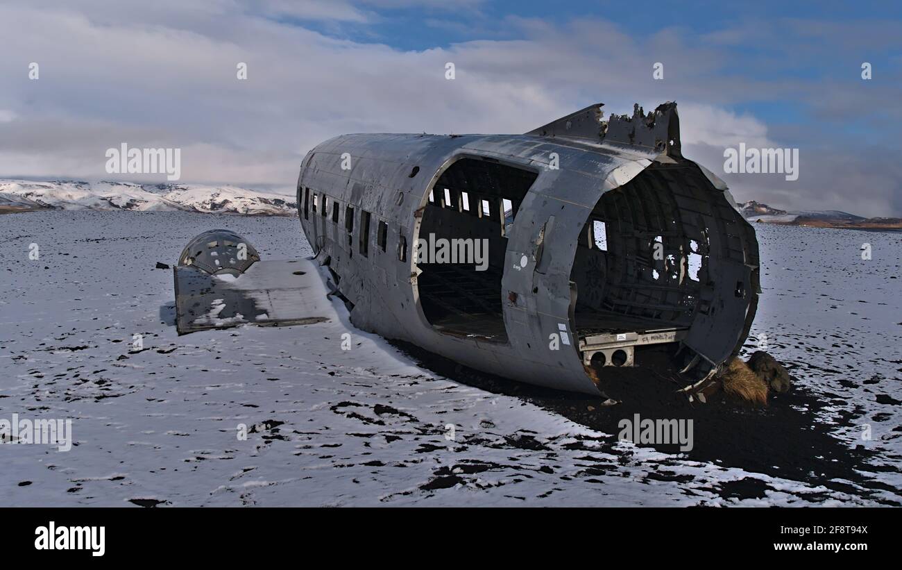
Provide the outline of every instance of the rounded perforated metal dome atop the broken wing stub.
<path id="1" fill-rule="evenodd" d="M 197 267 L 210 275 L 229 273 L 241 275 L 260 254 L 241 235 L 231 230 L 209 230 L 189 241 L 179 255 L 179 265 Z"/>

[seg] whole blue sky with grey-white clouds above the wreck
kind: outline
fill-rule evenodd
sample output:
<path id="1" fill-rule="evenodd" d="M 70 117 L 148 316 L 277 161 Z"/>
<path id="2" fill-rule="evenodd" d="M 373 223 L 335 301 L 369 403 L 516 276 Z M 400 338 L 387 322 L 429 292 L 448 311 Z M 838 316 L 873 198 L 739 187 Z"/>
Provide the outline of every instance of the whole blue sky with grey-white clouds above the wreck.
<path id="1" fill-rule="evenodd" d="M 684 154 L 737 200 L 902 216 L 902 7 L 726 4 L 0 0 L 0 178 L 163 181 L 106 173 L 126 142 L 180 148 L 182 182 L 290 190 L 340 133 L 523 133 L 676 100 Z M 724 173 L 742 142 L 799 149 L 798 179 Z"/>

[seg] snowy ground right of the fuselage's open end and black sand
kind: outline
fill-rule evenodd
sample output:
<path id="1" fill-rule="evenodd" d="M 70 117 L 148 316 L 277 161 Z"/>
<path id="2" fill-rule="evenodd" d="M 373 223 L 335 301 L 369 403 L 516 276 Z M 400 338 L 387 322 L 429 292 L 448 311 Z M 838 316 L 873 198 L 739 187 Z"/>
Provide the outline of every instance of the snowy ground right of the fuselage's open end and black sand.
<path id="1" fill-rule="evenodd" d="M 882 450 L 876 478 L 900 492 L 902 232 L 760 224 L 755 231 L 763 293 L 746 352 L 763 338 L 799 383 L 833 410 L 860 416 L 836 435 Z M 861 259 L 864 244 L 870 260 Z"/>

